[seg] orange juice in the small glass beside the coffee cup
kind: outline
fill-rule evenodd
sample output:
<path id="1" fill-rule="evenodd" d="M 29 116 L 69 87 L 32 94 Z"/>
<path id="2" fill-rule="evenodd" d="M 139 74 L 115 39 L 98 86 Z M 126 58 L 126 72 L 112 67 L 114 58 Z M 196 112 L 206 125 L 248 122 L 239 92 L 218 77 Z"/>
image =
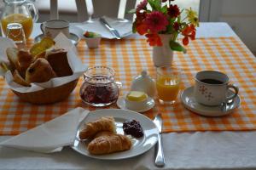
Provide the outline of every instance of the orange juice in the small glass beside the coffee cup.
<path id="1" fill-rule="evenodd" d="M 156 89 L 159 99 L 163 101 L 174 101 L 179 91 L 179 80 L 177 77 L 161 76 L 156 81 Z"/>

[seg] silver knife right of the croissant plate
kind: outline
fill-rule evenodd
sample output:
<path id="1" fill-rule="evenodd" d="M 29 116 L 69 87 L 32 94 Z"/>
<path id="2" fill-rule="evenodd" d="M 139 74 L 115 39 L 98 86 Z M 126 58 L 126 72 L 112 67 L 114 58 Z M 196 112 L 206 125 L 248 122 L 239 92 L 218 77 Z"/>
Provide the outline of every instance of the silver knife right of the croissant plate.
<path id="1" fill-rule="evenodd" d="M 165 161 L 165 156 L 164 156 L 164 151 L 163 151 L 163 146 L 162 146 L 162 138 L 161 138 L 162 124 L 163 124 L 161 115 L 158 114 L 157 116 L 155 116 L 153 122 L 159 130 L 154 164 L 157 167 L 164 167 L 166 164 L 166 161 Z"/>

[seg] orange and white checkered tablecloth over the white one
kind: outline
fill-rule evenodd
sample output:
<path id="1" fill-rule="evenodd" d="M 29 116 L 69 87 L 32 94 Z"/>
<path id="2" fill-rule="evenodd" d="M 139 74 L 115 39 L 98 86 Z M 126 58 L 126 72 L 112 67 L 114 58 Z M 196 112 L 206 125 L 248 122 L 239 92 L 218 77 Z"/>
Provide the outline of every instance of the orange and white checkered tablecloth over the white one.
<path id="1" fill-rule="evenodd" d="M 101 47 L 85 48 L 78 45 L 79 56 L 88 66 L 108 65 L 115 71 L 117 81 L 123 82 L 121 94 L 131 87 L 132 77 L 147 69 L 155 77 L 152 48 L 145 39 L 102 40 Z M 155 105 L 144 114 L 153 118 L 161 112 L 164 132 L 225 131 L 256 129 L 256 59 L 238 37 L 198 38 L 191 42 L 188 53 L 175 53 L 173 65 L 183 71 L 182 90 L 193 85 L 197 71 L 217 70 L 229 75 L 240 88 L 241 106 L 228 116 L 205 117 L 186 110 L 180 99 L 172 107 Z M 3 78 L 0 80 L 0 135 L 14 135 L 60 116 L 75 107 L 95 110 L 84 105 L 79 97 L 82 79 L 73 93 L 64 101 L 53 105 L 31 105 L 20 101 Z M 111 105 L 107 108 L 116 108 Z M 101 108 L 102 109 L 102 108 Z"/>

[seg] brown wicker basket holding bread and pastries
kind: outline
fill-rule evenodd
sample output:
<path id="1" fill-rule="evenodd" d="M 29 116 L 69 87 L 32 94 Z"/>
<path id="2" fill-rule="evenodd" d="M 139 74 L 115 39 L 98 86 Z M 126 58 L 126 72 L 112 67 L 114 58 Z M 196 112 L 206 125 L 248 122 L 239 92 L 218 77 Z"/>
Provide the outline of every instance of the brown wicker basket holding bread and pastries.
<path id="1" fill-rule="evenodd" d="M 63 99 L 66 99 L 67 96 L 72 93 L 77 83 L 78 79 L 55 88 L 45 88 L 44 90 L 39 90 L 37 92 L 30 93 L 20 93 L 15 90 L 12 91 L 23 101 L 32 104 L 52 104 Z"/>

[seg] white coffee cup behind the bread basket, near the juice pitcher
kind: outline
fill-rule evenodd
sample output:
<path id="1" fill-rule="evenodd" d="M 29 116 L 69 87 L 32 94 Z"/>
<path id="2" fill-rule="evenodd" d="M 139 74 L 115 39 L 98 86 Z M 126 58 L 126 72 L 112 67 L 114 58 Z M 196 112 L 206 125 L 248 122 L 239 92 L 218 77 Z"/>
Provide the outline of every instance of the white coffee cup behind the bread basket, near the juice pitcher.
<path id="1" fill-rule="evenodd" d="M 41 24 L 44 36 L 55 38 L 60 32 L 69 37 L 69 22 L 67 20 L 47 20 Z"/>

